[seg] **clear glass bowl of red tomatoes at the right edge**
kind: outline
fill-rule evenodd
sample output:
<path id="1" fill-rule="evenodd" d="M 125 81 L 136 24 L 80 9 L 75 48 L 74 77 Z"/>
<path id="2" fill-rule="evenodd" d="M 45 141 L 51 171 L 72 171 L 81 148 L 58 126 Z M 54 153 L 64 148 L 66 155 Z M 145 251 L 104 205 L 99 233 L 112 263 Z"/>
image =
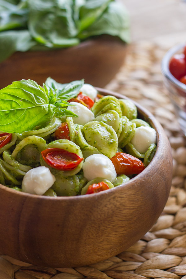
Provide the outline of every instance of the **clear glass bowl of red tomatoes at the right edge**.
<path id="1" fill-rule="evenodd" d="M 178 44 L 166 52 L 162 74 L 179 125 L 186 135 L 186 44 Z"/>

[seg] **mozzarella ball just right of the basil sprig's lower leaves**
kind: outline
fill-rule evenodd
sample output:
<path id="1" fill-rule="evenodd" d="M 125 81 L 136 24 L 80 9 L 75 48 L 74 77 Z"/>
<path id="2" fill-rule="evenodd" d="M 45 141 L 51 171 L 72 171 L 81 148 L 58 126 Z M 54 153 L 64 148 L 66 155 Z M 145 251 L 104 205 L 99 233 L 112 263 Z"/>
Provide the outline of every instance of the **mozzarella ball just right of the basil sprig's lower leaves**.
<path id="1" fill-rule="evenodd" d="M 71 102 L 70 104 L 73 104 L 73 106 L 68 106 L 67 109 L 78 115 L 78 117 L 72 117 L 74 124 L 85 125 L 94 120 L 94 113 L 89 108 L 77 102 Z"/>

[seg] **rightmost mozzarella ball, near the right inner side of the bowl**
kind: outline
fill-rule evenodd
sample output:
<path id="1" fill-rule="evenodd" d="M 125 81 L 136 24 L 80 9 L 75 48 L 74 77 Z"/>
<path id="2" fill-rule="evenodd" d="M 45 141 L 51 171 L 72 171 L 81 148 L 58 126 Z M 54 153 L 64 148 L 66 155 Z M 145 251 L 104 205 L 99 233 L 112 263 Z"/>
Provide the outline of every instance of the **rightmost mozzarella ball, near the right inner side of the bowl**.
<path id="1" fill-rule="evenodd" d="M 131 144 L 134 145 L 139 153 L 145 153 L 153 143 L 156 143 L 156 131 L 153 128 L 147 126 L 136 128 Z"/>

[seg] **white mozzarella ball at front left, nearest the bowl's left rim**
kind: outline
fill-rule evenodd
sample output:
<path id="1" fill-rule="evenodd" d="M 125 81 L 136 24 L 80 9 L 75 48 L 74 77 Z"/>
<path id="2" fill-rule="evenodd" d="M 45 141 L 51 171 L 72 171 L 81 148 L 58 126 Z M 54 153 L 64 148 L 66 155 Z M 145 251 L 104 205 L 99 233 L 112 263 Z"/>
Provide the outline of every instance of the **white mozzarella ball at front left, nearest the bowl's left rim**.
<path id="1" fill-rule="evenodd" d="M 55 176 L 49 168 L 39 166 L 29 170 L 22 181 L 22 191 L 30 194 L 43 195 L 55 182 Z"/>

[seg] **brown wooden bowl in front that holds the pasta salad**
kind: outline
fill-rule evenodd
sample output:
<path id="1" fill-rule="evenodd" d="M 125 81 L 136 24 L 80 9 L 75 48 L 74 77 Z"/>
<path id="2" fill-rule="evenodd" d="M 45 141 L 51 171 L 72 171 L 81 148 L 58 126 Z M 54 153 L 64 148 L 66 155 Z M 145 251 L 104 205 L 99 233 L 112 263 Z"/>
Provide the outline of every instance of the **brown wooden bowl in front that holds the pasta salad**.
<path id="1" fill-rule="evenodd" d="M 117 255 L 148 232 L 169 196 L 172 157 L 162 126 L 146 109 L 137 108 L 139 117 L 157 131 L 157 151 L 126 184 L 93 195 L 57 198 L 0 184 L 2 253 L 35 265 L 76 267 Z"/>

